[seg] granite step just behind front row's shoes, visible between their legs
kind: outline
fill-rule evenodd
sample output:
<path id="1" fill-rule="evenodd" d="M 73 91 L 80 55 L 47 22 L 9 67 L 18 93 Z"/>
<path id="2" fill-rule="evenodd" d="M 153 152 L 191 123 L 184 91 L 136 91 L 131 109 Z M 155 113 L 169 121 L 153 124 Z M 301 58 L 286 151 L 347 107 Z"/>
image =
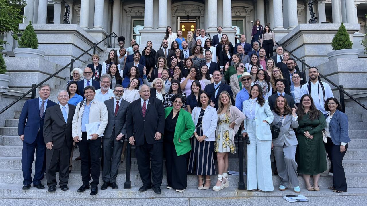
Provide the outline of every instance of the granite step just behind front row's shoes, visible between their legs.
<path id="1" fill-rule="evenodd" d="M 58 180 L 58 173 L 57 180 Z M 348 188 L 365 188 L 367 187 L 367 173 L 346 173 L 346 180 L 348 184 Z M 32 170 L 32 177 L 34 176 L 34 170 Z M 214 186 L 217 180 L 217 175 L 211 176 L 211 186 Z M 229 175 L 228 180 L 230 185 L 237 185 L 239 176 Z M 274 187 L 279 187 L 280 185 L 280 177 L 277 175 L 272 176 Z M 126 180 L 126 172 L 119 172 L 117 174 L 116 183 L 119 185 L 123 185 Z M 138 171 L 131 171 L 131 185 L 142 185 L 140 176 Z M 298 177 L 300 187 L 305 187 L 305 181 L 300 175 Z M 41 181 L 42 184 L 47 185 L 46 177 Z M 197 186 L 197 176 L 196 175 L 188 175 L 187 176 L 188 186 Z M 244 176 L 244 182 L 246 183 L 246 176 Z M 313 184 L 313 179 L 311 178 L 311 184 Z M 11 170 L 11 169 L 0 169 L 0 184 L 22 184 L 23 183 L 23 173 L 21 170 Z M 69 174 L 69 182 L 68 185 L 81 185 L 81 171 L 73 170 Z M 99 185 L 102 185 L 102 178 L 99 178 Z M 330 187 L 333 184 L 332 176 L 321 176 L 319 179 L 319 187 Z M 167 174 L 163 172 L 162 186 L 167 185 Z M 291 186 L 291 185 L 290 185 Z M 1 187 L 0 187 L 1 188 Z"/>

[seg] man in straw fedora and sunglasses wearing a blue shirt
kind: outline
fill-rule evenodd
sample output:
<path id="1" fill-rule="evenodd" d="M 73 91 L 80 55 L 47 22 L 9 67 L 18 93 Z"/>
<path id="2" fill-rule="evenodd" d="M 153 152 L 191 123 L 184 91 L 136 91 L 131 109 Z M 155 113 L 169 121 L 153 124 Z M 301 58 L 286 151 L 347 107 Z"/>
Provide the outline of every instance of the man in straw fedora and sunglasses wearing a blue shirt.
<path id="1" fill-rule="evenodd" d="M 242 111 L 243 102 L 250 98 L 250 90 L 252 82 L 255 81 L 255 77 L 248 72 L 244 72 L 242 73 L 242 76 L 238 78 L 238 80 L 242 82 L 243 89 L 241 89 L 236 95 L 235 106 Z"/>

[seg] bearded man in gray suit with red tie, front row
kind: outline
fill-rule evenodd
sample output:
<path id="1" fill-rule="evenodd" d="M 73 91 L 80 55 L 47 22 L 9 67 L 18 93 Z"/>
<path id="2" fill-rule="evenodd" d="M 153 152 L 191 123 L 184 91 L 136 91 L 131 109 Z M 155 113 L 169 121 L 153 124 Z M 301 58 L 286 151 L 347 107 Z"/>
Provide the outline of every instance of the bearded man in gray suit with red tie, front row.
<path id="1" fill-rule="evenodd" d="M 108 186 L 118 189 L 117 172 L 121 161 L 121 152 L 126 135 L 126 113 L 130 103 L 122 99 L 124 88 L 116 84 L 113 90 L 115 98 L 105 101 L 108 112 L 108 124 L 103 132 L 103 169 L 101 190 Z"/>

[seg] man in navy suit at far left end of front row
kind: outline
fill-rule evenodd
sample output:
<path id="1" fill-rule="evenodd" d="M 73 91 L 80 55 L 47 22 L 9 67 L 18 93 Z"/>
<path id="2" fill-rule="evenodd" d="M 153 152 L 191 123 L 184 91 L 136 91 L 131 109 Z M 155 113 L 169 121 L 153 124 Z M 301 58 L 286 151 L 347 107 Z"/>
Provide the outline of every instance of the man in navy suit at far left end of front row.
<path id="1" fill-rule="evenodd" d="M 48 99 L 51 87 L 48 84 L 41 84 L 39 98 L 29 99 L 24 103 L 18 123 L 18 135 L 23 141 L 22 149 L 22 171 L 23 171 L 23 190 L 28 190 L 32 183 L 32 163 L 34 151 L 36 153 L 36 164 L 34 166 L 33 187 L 43 189 L 41 184 L 46 171 L 46 144 L 43 139 L 44 114 L 48 107 L 56 105 Z"/>

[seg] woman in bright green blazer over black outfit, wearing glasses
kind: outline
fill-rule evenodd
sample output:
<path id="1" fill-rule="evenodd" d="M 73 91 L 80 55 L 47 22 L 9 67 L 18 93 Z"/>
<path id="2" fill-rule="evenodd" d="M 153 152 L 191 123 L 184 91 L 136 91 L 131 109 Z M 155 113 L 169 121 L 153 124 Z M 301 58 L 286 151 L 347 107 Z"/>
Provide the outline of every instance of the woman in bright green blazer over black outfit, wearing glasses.
<path id="1" fill-rule="evenodd" d="M 166 155 L 167 188 L 183 192 L 187 187 L 187 158 L 191 150 L 190 137 L 195 131 L 191 114 L 182 109 L 186 101 L 180 94 L 171 99 L 173 107 L 167 107 L 164 125 L 164 153 Z"/>

